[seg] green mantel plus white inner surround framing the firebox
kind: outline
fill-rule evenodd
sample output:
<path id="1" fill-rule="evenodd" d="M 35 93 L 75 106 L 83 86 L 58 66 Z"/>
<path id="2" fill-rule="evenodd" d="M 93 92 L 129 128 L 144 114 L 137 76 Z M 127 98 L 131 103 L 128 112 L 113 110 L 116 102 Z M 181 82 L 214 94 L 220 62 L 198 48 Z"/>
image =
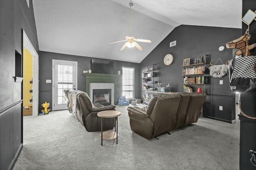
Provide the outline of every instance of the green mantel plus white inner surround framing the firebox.
<path id="1" fill-rule="evenodd" d="M 92 83 L 98 83 L 102 84 L 102 86 L 106 87 L 105 85 L 112 84 L 113 85 L 113 91 L 111 98 L 113 99 L 112 102 L 114 102 L 114 105 L 117 105 L 118 99 L 117 99 L 117 79 L 120 75 L 117 74 L 98 74 L 98 73 L 84 73 L 84 76 L 86 77 L 86 93 L 88 96 L 90 96 L 92 100 L 92 88 L 90 85 L 95 85 Z M 104 89 L 104 88 L 98 88 L 98 89 Z M 106 89 L 109 89 L 106 87 Z"/>

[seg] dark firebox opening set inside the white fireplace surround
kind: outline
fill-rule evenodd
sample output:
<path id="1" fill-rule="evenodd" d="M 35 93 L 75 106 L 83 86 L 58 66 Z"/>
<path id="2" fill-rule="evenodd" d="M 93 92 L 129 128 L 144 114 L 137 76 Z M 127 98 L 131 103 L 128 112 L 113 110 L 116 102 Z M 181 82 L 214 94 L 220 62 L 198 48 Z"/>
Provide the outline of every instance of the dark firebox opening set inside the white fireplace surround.
<path id="1" fill-rule="evenodd" d="M 111 89 L 93 89 L 92 102 L 103 106 L 111 105 Z"/>

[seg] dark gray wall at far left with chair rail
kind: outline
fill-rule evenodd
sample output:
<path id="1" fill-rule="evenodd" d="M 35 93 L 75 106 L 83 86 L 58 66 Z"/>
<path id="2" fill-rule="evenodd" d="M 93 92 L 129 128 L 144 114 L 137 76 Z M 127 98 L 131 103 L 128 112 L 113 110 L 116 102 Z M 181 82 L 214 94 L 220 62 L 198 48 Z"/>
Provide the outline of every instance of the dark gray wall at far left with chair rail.
<path id="1" fill-rule="evenodd" d="M 22 54 L 22 29 L 39 51 L 32 0 L 0 1 L 0 169 L 11 169 L 22 149 L 22 83 L 14 82 L 15 50 Z M 20 66 L 18 67 L 20 68 Z"/>

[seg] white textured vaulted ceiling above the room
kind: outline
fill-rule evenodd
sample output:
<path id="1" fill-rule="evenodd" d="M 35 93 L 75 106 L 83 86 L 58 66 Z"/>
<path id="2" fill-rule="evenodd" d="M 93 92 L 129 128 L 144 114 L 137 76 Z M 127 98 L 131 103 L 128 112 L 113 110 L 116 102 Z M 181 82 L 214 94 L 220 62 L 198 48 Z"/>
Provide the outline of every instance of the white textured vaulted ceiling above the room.
<path id="1" fill-rule="evenodd" d="M 242 28 L 242 0 L 33 0 L 40 51 L 140 63 L 178 25 Z M 169 45 L 169 44 L 167 44 Z"/>

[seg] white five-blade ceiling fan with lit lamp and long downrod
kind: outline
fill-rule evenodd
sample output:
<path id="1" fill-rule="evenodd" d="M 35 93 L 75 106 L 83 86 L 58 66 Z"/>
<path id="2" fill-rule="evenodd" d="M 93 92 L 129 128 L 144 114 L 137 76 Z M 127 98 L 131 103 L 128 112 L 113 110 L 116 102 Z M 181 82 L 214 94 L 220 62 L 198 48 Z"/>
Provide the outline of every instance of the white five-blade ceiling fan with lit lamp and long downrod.
<path id="1" fill-rule="evenodd" d="M 142 51 L 144 49 L 136 41 L 138 41 L 138 42 L 145 42 L 145 43 L 151 43 L 151 41 L 150 41 L 150 39 L 136 39 L 135 36 L 132 35 L 132 33 L 131 33 L 131 29 L 132 29 L 131 10 L 132 10 L 133 4 L 129 3 L 129 6 L 130 6 L 130 35 L 126 35 L 125 36 L 126 40 L 117 41 L 117 42 L 114 42 L 114 43 L 119 43 L 119 42 L 127 41 L 123 45 L 123 47 L 120 49 L 120 51 L 124 50 L 125 47 L 132 48 L 134 46 L 137 47 L 137 49 L 139 49 L 140 51 Z M 110 44 L 114 44 L 114 43 L 110 43 Z"/>

